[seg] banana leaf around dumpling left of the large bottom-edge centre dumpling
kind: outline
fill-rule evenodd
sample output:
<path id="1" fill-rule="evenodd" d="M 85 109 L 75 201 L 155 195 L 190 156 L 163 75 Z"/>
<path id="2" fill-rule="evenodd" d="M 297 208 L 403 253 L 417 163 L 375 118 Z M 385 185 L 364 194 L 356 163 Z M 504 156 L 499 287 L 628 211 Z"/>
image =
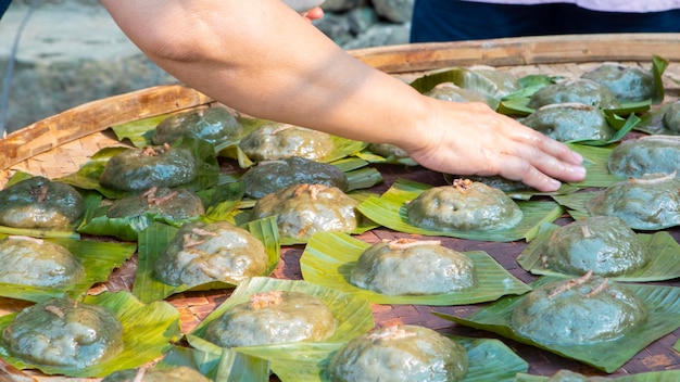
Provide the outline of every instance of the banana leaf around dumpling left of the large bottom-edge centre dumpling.
<path id="1" fill-rule="evenodd" d="M 345 343 L 375 327 L 370 305 L 366 301 L 306 281 L 257 277 L 241 282 L 227 301 L 211 313 L 190 334 L 187 334 L 187 340 L 200 351 L 219 352 L 221 347 L 204 340 L 207 324 L 231 307 L 248 302 L 251 295 L 269 291 L 293 291 L 313 295 L 328 306 L 338 322 L 336 332 L 320 344 L 301 342 L 234 348 L 239 353 L 268 360 L 274 372 L 277 371 L 274 368 L 275 365 L 286 364 L 292 353 L 298 353 L 301 358 L 305 358 L 310 346 L 335 348 L 335 344 Z M 281 352 L 282 348 L 286 348 L 286 352 Z"/>

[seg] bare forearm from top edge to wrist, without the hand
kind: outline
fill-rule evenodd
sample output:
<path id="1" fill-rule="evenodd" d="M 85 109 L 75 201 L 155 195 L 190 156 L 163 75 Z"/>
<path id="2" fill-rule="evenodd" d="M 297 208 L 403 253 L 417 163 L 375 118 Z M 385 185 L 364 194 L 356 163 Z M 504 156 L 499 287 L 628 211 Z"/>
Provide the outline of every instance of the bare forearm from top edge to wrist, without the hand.
<path id="1" fill-rule="evenodd" d="M 428 114 L 411 87 L 353 59 L 277 0 L 103 3 L 161 67 L 243 113 L 398 144 Z"/>

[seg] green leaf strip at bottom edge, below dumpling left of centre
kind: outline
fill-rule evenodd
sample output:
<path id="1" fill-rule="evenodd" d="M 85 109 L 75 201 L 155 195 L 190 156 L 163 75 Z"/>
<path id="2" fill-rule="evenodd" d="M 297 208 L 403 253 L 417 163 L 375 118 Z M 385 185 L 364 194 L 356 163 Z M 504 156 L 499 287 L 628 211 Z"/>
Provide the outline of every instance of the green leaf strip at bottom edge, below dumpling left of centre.
<path id="1" fill-rule="evenodd" d="M 179 366 L 190 367 L 213 381 L 268 382 L 270 374 L 269 364 L 266 360 L 228 348 L 210 353 L 173 346 L 155 367 L 172 369 Z"/>

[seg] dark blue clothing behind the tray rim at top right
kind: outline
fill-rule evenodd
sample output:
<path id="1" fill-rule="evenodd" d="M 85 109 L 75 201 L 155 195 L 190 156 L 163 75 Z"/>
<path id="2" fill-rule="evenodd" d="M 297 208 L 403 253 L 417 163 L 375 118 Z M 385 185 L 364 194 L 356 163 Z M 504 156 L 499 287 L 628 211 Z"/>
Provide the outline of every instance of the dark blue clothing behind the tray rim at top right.
<path id="1" fill-rule="evenodd" d="M 412 42 L 503 37 L 678 33 L 680 10 L 652 13 L 599 12 L 575 4 L 489 4 L 459 0 L 415 0 Z"/>

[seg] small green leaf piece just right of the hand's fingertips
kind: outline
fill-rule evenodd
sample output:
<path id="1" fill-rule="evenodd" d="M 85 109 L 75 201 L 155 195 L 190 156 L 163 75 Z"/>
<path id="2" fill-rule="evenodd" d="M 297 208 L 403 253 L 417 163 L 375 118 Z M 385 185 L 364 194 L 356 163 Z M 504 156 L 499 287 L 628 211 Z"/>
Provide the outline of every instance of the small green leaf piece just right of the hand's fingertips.
<path id="1" fill-rule="evenodd" d="M 612 155 L 612 151 L 616 144 L 593 147 L 571 143 L 567 145 L 569 149 L 583 156 L 583 166 L 588 171 L 585 179 L 577 182 L 570 182 L 569 184 L 580 188 L 609 187 L 614 183 L 626 180 L 624 177 L 610 174 L 607 168 L 607 162 L 609 161 L 609 156 Z"/>

